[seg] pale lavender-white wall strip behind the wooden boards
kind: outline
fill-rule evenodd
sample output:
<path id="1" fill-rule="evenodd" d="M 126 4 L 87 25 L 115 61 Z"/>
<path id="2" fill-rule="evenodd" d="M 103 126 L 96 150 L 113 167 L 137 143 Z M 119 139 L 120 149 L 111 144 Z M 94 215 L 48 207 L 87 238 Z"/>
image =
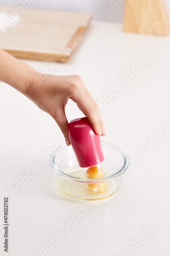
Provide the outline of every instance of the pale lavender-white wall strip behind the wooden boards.
<path id="1" fill-rule="evenodd" d="M 113 8 L 114 10 L 111 8 L 109 0 L 0 0 L 0 5 L 19 6 L 28 1 L 32 2 L 31 8 L 89 12 L 93 14 L 94 19 L 118 22 L 123 20 L 125 2 L 125 0 L 112 0 L 118 5 Z M 170 1 L 165 0 L 165 2 L 170 16 Z"/>

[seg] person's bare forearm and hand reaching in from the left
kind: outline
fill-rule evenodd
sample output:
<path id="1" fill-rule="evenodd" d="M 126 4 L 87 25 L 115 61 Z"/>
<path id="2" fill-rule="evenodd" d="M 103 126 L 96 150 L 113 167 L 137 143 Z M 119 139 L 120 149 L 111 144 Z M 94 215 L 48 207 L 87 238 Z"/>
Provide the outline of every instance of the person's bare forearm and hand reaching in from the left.
<path id="1" fill-rule="evenodd" d="M 65 105 L 68 99 L 88 117 L 98 135 L 106 135 L 101 113 L 80 76 L 41 74 L 26 63 L 0 49 L 0 80 L 31 99 L 41 110 L 50 114 L 59 125 L 69 145 Z"/>

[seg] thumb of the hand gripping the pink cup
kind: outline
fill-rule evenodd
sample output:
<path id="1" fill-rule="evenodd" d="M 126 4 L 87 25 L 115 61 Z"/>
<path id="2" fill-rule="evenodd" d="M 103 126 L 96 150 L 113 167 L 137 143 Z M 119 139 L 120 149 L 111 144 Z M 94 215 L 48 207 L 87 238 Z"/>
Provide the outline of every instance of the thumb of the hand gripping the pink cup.
<path id="1" fill-rule="evenodd" d="M 67 118 L 65 116 L 64 108 L 58 108 L 57 113 L 56 113 L 55 116 L 53 116 L 53 118 L 57 122 L 58 126 L 61 129 L 61 132 L 64 135 L 65 143 L 67 144 L 67 146 L 69 146 L 70 145 L 70 140 L 69 140 L 69 137 L 68 137 L 68 121 L 67 121 Z"/>

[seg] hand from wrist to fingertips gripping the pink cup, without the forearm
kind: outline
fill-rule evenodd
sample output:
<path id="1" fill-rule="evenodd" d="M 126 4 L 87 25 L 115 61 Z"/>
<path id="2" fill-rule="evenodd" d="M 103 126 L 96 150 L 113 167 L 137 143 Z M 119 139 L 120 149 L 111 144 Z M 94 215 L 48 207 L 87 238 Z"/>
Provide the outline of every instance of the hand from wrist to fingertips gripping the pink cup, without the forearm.
<path id="1" fill-rule="evenodd" d="M 43 79 L 40 78 L 42 75 Z M 55 76 L 35 72 L 26 96 L 55 119 L 67 145 L 70 144 L 70 141 L 65 105 L 69 98 L 76 102 L 78 108 L 88 117 L 95 133 L 106 135 L 98 106 L 78 75 Z"/>

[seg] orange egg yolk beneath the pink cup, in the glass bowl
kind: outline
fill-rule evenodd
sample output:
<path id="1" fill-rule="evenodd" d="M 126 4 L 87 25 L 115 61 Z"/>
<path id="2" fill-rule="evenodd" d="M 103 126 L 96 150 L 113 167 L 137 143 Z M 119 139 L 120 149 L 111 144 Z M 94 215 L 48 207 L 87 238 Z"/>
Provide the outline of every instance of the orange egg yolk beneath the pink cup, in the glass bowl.
<path id="1" fill-rule="evenodd" d="M 91 166 L 87 169 L 86 176 L 89 179 L 102 178 L 103 177 L 102 168 L 98 166 Z M 88 183 L 87 186 L 94 192 L 94 194 L 100 194 L 103 191 L 105 191 L 107 187 L 107 182 Z"/>

